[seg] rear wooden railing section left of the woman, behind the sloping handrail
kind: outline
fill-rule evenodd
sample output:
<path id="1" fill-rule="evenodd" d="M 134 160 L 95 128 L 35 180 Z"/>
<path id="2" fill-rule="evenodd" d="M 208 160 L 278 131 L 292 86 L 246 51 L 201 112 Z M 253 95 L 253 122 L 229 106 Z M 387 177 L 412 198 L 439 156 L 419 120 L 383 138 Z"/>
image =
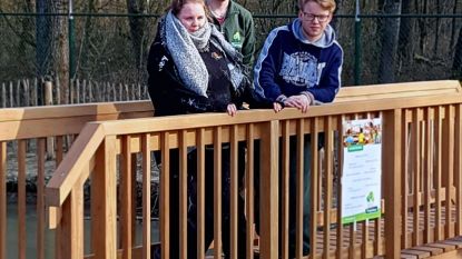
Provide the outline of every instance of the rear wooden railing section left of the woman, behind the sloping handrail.
<path id="1" fill-rule="evenodd" d="M 0 258 L 46 258 L 46 247 L 55 247 L 46 238 L 45 185 L 87 122 L 151 114 L 150 101 L 0 109 Z M 36 202 L 28 205 L 29 195 Z M 8 228 L 7 196 L 16 197 L 11 202 L 18 208 L 18 225 Z M 31 206 L 36 207 L 37 226 L 27 223 L 27 208 Z M 13 246 L 11 239 L 17 240 Z M 37 240 L 29 249 L 33 255 L 26 255 L 28 240 Z"/>

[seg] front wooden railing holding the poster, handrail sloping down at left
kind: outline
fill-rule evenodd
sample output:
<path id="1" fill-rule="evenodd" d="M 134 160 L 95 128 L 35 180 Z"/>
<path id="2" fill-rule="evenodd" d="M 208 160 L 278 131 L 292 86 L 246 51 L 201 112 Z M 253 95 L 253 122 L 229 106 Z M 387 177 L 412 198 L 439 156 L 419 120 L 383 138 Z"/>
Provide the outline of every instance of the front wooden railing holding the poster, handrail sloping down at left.
<path id="1" fill-rule="evenodd" d="M 442 83 L 442 82 L 440 82 Z M 287 206 L 283 206 L 282 218 L 278 217 L 278 168 L 282 176 L 287 176 L 288 138 L 296 136 L 298 142 L 308 135 L 312 141 L 312 257 L 324 258 L 370 258 L 384 255 L 387 258 L 400 258 L 402 251 L 422 245 L 443 241 L 461 235 L 461 103 L 462 96 L 456 82 L 443 93 L 425 93 L 416 90 L 415 94 L 404 94 L 399 90 L 404 84 L 377 87 L 374 90 L 386 92 L 384 99 L 364 96 L 362 100 L 338 101 L 322 107 L 312 107 L 309 112 L 301 114 L 294 109 L 274 113 L 271 110 L 252 110 L 239 112 L 229 118 L 226 114 L 190 114 L 165 118 L 147 118 L 119 121 L 101 121 L 87 124 L 76 140 L 68 156 L 59 166 L 47 188 L 49 206 L 61 208 L 56 223 L 63 228 L 66 239 L 61 239 L 66 257 L 83 257 L 82 210 L 83 182 L 91 179 L 90 201 L 92 215 L 91 249 L 89 258 L 149 258 L 150 257 L 150 220 L 149 177 L 151 152 L 163 155 L 163 172 L 160 176 L 161 206 L 160 241 L 163 251 L 168 251 L 169 235 L 180 240 L 180 251 L 186 251 L 186 215 L 181 213 L 180 231 L 168 231 L 169 189 L 168 173 L 170 149 L 180 152 L 180 211 L 186 211 L 186 157 L 191 147 L 198 152 L 198 246 L 203 245 L 204 222 L 204 150 L 213 145 L 216 150 L 222 143 L 229 143 L 233 176 L 237 176 L 237 146 L 247 142 L 247 203 L 246 215 L 248 243 L 247 257 L 252 258 L 253 249 L 253 167 L 259 162 L 261 178 L 261 222 L 259 251 L 262 258 L 278 257 L 278 222 L 287 226 Z M 423 86 L 423 84 L 422 84 Z M 425 84 L 426 86 L 426 84 Z M 433 82 L 433 86 L 438 86 Z M 454 87 L 455 86 L 455 87 Z M 413 87 L 411 86 L 411 89 Z M 354 91 L 352 89 L 351 91 Z M 451 92 L 450 94 L 448 92 Z M 403 97 L 401 97 L 403 96 Z M 342 94 L 340 94 L 342 97 Z M 342 165 L 340 139 L 342 139 L 342 121 L 353 118 L 377 118 L 383 120 L 383 159 L 382 180 L 385 213 L 374 222 L 362 222 L 358 228 L 343 226 L 341 211 L 336 205 L 342 201 L 340 179 L 334 160 Z M 323 159 L 318 147 L 318 133 L 325 135 Z M 340 138 L 335 138 L 340 136 Z M 261 141 L 261 158 L 253 157 L 255 140 Z M 282 163 L 278 163 L 279 140 Z M 425 143 L 422 141 L 425 140 Z M 139 153 L 142 157 L 141 171 L 144 179 L 144 231 L 142 246 L 134 247 L 132 201 L 130 182 L 134 181 L 134 168 L 130 158 Z M 297 156 L 303 156 L 298 147 Z M 217 152 L 216 161 L 220 160 Z M 303 168 L 303 163 L 298 163 Z M 215 173 L 219 176 L 216 168 Z M 117 201 L 117 176 L 120 177 Z M 302 175 L 298 182 L 303 182 Z M 285 177 L 283 178 L 285 179 Z M 281 179 L 281 180 L 283 180 Z M 232 217 L 236 217 L 237 177 L 232 178 Z M 215 205 L 219 210 L 220 193 L 215 185 Z M 287 200 L 288 191 L 283 189 L 281 198 Z M 302 203 L 298 195 L 297 205 Z M 302 211 L 302 210 L 298 210 Z M 299 212 L 301 213 L 301 212 Z M 219 213 L 216 213 L 219 215 Z M 299 217 L 299 216 L 298 216 Z M 118 220 L 119 218 L 119 220 Z M 411 221 L 409 221 L 411 219 Z M 236 255 L 237 237 L 236 219 L 232 219 L 232 253 Z M 409 223 L 411 222 L 411 223 Z M 207 222 L 212 223 L 212 222 Z M 220 229 L 222 219 L 215 218 L 214 229 Z M 301 229 L 298 221 L 298 229 Z M 283 229 L 286 229 L 283 227 Z M 443 231 L 444 230 L 444 231 Z M 287 235 L 281 231 L 283 250 L 287 249 Z M 120 237 L 120 245 L 117 241 Z M 302 236 L 298 235 L 297 242 Z M 220 257 L 220 236 L 215 231 L 215 257 Z M 299 246 L 298 246 L 299 247 Z M 403 250 L 404 249 L 404 250 Z M 298 257 L 301 249 L 298 249 Z M 449 256 L 456 256 L 455 251 Z M 168 253 L 163 253 L 168 258 Z M 200 257 L 204 253 L 199 255 Z"/>

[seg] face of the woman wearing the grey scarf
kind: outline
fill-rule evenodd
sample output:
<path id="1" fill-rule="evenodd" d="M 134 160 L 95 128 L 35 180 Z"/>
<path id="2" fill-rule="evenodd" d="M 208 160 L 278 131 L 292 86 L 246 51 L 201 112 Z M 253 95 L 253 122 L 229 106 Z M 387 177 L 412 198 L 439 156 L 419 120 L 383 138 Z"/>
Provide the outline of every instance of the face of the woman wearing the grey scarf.
<path id="1" fill-rule="evenodd" d="M 178 13 L 178 20 L 189 32 L 200 29 L 207 21 L 204 6 L 198 2 L 188 2 Z"/>

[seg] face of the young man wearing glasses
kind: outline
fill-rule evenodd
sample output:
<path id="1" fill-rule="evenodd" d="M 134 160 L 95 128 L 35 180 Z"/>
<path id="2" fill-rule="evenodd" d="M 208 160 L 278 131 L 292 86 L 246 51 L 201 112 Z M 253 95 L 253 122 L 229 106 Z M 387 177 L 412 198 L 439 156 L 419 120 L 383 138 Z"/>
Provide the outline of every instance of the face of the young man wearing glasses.
<path id="1" fill-rule="evenodd" d="M 309 41 L 316 41 L 322 36 L 327 24 L 332 20 L 332 13 L 323 9 L 315 1 L 306 2 L 298 13 L 302 21 L 303 33 Z"/>

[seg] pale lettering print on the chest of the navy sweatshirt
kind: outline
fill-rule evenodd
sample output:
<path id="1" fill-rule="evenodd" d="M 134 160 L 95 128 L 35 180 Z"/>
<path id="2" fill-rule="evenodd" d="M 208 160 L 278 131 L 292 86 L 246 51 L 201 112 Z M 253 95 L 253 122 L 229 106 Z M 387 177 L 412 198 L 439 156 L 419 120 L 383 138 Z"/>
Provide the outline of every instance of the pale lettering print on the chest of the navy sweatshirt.
<path id="1" fill-rule="evenodd" d="M 317 63 L 316 57 L 308 52 L 284 52 L 283 66 L 279 76 L 284 81 L 297 87 L 312 88 L 318 83 L 318 74 L 325 63 Z"/>

